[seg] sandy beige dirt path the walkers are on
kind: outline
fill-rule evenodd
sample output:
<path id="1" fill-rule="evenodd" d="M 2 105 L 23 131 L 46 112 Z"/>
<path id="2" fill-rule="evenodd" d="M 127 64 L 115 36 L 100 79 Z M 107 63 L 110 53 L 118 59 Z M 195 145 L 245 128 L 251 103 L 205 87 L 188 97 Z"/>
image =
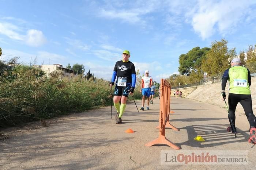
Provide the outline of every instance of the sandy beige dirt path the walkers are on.
<path id="1" fill-rule="evenodd" d="M 140 101 L 136 102 L 138 107 Z M 172 98 L 171 123 L 180 131 L 166 129 L 166 138 L 181 150 L 248 150 L 248 165 L 161 165 L 161 150 L 168 146 L 146 147 L 158 137 L 159 100 L 149 111 L 127 104 L 123 124 L 111 120 L 110 107 L 76 113 L 23 128 L 4 130 L 10 139 L 0 141 L 0 169 L 255 169 L 255 148 L 248 143 L 249 124 L 237 115 L 238 140 L 226 132 L 227 111 L 214 105 L 185 98 Z M 126 134 L 131 128 L 135 133 Z M 205 142 L 193 140 L 198 134 Z"/>

